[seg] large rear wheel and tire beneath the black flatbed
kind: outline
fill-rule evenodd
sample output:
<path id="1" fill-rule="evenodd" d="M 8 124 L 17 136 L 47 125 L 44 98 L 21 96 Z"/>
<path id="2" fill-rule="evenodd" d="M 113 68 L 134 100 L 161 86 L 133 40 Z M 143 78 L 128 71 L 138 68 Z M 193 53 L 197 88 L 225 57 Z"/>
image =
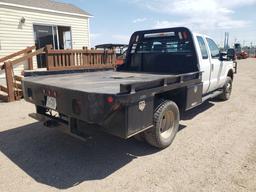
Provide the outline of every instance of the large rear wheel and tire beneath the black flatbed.
<path id="1" fill-rule="evenodd" d="M 154 113 L 154 127 L 145 131 L 145 140 L 152 146 L 164 149 L 171 145 L 179 129 L 180 113 L 176 103 L 164 101 Z"/>

